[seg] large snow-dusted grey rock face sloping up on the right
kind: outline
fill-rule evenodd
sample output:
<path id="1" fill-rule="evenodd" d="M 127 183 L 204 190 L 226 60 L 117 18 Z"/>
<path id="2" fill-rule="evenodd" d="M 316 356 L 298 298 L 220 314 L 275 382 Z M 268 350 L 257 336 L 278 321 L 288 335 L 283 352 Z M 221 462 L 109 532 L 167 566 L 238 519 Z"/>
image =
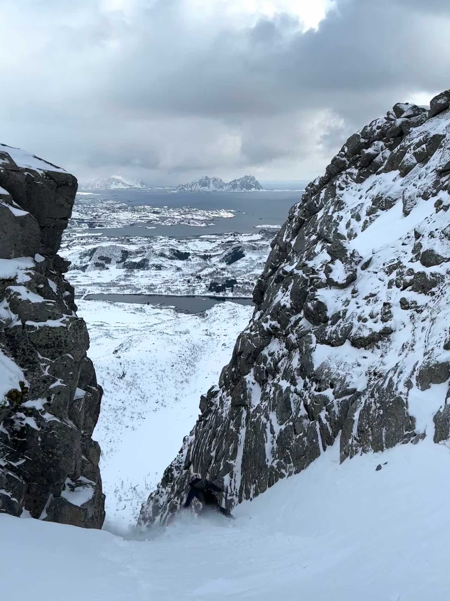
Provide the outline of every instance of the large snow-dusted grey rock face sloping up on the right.
<path id="1" fill-rule="evenodd" d="M 192 470 L 232 506 L 339 437 L 341 461 L 449 438 L 449 99 L 395 105 L 307 186 L 142 525 L 178 510 Z"/>

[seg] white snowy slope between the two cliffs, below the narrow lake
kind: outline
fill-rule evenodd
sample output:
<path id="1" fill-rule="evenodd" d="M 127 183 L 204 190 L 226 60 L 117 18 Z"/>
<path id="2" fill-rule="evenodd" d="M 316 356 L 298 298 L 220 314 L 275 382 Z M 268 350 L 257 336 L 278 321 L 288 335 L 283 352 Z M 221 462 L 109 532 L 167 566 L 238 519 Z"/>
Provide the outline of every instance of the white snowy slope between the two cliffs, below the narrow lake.
<path id="1" fill-rule="evenodd" d="M 218 382 L 252 308 L 225 302 L 187 315 L 152 305 L 77 301 L 104 388 L 94 439 L 101 446 L 106 520 L 135 523 L 140 504 Z"/>

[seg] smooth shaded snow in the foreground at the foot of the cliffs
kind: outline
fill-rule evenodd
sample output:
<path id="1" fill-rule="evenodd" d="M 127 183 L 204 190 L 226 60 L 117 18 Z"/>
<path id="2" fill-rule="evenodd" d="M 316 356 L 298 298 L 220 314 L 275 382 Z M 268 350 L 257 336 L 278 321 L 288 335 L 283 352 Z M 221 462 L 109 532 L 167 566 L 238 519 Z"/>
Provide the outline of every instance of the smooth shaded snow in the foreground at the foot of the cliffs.
<path id="1" fill-rule="evenodd" d="M 231 523 L 180 516 L 122 537 L 1 515 L 2 597 L 448 599 L 449 448 L 430 437 L 338 459 L 337 444 L 239 505 Z"/>

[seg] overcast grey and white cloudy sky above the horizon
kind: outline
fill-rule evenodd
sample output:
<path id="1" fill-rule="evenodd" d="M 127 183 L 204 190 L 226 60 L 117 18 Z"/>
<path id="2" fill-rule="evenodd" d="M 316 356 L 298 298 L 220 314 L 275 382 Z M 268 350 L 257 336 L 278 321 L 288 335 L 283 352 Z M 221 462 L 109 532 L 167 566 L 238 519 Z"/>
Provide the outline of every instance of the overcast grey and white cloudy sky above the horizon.
<path id="1" fill-rule="evenodd" d="M 1 0 L 2 139 L 81 180 L 309 180 L 450 87 L 448 0 Z"/>

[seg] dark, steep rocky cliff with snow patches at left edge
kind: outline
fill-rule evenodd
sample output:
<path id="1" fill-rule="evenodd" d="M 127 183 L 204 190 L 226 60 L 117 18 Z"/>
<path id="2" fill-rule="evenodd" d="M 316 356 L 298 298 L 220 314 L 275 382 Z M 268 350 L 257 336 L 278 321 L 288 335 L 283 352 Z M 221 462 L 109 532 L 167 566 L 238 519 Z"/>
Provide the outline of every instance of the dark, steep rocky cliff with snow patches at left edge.
<path id="1" fill-rule="evenodd" d="M 77 180 L 0 145 L 0 512 L 100 528 L 101 388 L 68 261 Z"/>

